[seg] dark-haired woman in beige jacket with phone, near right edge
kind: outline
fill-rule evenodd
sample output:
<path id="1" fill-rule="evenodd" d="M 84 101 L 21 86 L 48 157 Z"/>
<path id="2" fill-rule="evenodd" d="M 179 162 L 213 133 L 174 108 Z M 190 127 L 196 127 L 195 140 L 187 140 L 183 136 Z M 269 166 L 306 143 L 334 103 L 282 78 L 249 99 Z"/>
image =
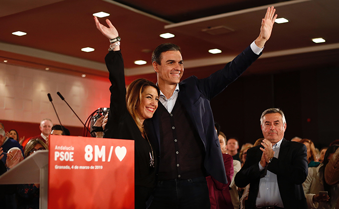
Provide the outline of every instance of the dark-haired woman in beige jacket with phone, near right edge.
<path id="1" fill-rule="evenodd" d="M 330 146 L 326 151 L 324 163 L 318 167 L 310 167 L 306 181 L 303 183 L 307 204 L 310 209 L 335 209 L 339 196 L 339 184 L 330 186 L 325 182 L 324 171 L 336 152 L 338 145 Z M 327 191 L 328 195 L 319 194 Z M 330 200 L 330 201 L 329 201 Z"/>

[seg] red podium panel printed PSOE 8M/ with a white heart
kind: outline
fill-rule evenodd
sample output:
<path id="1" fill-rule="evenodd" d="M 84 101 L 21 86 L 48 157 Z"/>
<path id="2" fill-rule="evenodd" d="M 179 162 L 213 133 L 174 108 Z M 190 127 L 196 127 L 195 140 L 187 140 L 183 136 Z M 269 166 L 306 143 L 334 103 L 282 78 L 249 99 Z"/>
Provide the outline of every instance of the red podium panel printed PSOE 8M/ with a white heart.
<path id="1" fill-rule="evenodd" d="M 134 141 L 50 135 L 48 209 L 134 209 Z"/>

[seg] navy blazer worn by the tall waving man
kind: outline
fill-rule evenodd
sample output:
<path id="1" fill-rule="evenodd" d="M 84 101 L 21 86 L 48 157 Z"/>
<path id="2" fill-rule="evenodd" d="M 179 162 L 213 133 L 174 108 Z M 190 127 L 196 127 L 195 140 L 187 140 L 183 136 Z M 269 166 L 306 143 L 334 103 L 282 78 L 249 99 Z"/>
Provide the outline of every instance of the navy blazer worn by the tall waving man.
<path id="1" fill-rule="evenodd" d="M 191 76 L 179 83 L 178 100 L 185 107 L 205 147 L 205 169 L 208 175 L 224 184 L 227 184 L 224 162 L 209 102 L 227 85 L 235 81 L 260 55 L 256 55 L 249 46 L 233 61 L 227 63 L 223 69 L 209 77 L 197 79 L 195 76 Z M 148 120 L 146 129 L 153 144 L 157 145 L 156 150 L 158 158 L 160 158 L 161 139 L 158 110 L 154 113 L 153 118 Z"/>

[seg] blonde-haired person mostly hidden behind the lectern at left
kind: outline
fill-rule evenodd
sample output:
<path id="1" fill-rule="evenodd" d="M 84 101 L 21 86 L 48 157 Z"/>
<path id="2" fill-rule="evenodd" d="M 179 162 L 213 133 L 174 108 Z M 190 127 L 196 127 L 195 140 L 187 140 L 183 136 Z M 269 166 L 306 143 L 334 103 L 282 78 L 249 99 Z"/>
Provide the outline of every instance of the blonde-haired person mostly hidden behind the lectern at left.
<path id="1" fill-rule="evenodd" d="M 29 157 L 39 150 L 47 150 L 47 145 L 39 138 L 28 141 L 25 146 L 25 157 Z M 39 209 L 40 184 L 17 185 L 17 209 Z"/>

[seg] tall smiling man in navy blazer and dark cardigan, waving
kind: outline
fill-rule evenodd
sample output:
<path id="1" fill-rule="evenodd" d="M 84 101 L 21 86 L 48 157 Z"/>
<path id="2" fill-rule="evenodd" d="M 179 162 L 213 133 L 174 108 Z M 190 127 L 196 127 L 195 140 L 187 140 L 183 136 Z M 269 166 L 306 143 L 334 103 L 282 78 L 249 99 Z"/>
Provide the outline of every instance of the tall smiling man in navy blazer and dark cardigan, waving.
<path id="1" fill-rule="evenodd" d="M 154 50 L 153 68 L 161 95 L 146 128 L 160 165 L 150 209 L 208 209 L 205 176 L 227 184 L 209 102 L 261 55 L 277 17 L 274 13 L 274 7 L 269 7 L 259 37 L 232 62 L 205 79 L 192 76 L 180 82 L 183 61 L 177 45 L 161 44 Z"/>

